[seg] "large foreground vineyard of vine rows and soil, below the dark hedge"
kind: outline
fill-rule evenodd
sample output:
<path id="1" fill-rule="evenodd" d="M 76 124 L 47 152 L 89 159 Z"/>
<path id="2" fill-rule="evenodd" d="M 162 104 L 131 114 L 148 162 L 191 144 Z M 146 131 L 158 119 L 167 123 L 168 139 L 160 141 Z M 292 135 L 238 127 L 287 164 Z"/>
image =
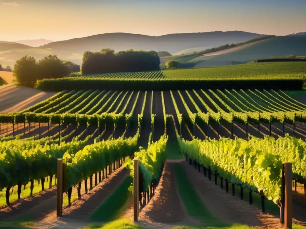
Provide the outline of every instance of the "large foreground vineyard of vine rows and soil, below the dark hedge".
<path id="1" fill-rule="evenodd" d="M 192 217 L 204 228 L 277 228 L 282 178 L 275 171 L 284 162 L 292 162 L 298 187 L 294 225 L 305 226 L 306 105 L 289 94 L 64 90 L 2 113 L 0 219 L 34 217 L 35 227 L 60 228 L 131 219 L 131 159 L 138 158 L 139 219 L 151 226 L 148 218 L 167 225 Z M 55 220 L 58 158 L 66 164 L 65 224 Z"/>

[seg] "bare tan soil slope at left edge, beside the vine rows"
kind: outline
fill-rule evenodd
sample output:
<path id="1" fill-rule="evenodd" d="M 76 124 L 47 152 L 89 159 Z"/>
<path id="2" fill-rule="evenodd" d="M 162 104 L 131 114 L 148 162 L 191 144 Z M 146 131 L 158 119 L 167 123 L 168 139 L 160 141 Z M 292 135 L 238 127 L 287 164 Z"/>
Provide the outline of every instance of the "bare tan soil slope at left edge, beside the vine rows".
<path id="1" fill-rule="evenodd" d="M 56 92 L 43 92 L 10 84 L 1 86 L 0 93 L 0 112 L 2 113 L 24 110 L 56 94 Z"/>

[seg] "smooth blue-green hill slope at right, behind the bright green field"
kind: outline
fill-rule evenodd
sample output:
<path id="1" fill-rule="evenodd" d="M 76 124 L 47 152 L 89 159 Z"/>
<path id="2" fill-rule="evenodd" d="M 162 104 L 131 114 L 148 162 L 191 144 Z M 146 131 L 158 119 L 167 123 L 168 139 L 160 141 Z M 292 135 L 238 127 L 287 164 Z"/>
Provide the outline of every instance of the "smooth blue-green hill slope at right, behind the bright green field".
<path id="1" fill-rule="evenodd" d="M 247 63 L 252 60 L 268 59 L 272 56 L 306 55 L 306 35 L 271 38 L 240 46 L 238 49 L 223 50 L 196 57 L 188 62 L 196 62 L 195 67 L 210 67 Z M 203 61 L 199 63 L 199 61 Z"/>

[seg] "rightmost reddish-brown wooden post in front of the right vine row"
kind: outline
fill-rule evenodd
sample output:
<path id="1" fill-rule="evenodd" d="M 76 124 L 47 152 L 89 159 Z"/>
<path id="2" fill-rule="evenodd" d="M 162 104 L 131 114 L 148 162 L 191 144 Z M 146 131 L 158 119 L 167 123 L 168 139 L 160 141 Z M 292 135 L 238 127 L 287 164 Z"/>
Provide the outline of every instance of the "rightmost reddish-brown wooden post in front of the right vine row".
<path id="1" fill-rule="evenodd" d="M 285 228 L 292 229 L 292 164 L 285 162 Z"/>

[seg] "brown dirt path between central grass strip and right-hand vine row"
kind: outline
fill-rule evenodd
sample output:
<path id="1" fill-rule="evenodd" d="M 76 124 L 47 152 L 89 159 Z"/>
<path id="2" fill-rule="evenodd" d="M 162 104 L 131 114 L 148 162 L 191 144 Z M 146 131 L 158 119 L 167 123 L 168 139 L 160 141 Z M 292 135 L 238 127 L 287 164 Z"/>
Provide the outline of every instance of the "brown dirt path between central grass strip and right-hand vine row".
<path id="1" fill-rule="evenodd" d="M 227 194 L 214 184 L 213 179 L 210 181 L 203 172 L 199 173 L 187 162 L 182 162 L 181 165 L 203 203 L 220 221 L 227 224 L 246 224 L 260 229 L 283 228 L 278 217 L 262 213 L 256 206 Z M 293 222 L 303 224 L 298 220 Z"/>

